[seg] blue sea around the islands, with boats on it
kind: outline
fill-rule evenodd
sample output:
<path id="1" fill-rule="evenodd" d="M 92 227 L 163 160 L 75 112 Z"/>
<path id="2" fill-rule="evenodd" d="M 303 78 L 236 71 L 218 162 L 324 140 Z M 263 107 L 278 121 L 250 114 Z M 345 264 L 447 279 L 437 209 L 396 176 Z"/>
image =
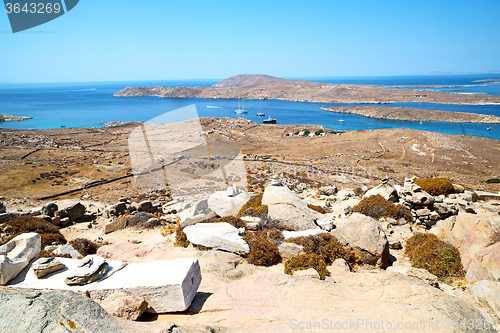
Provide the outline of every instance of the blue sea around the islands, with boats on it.
<path id="1" fill-rule="evenodd" d="M 442 85 L 433 90 L 452 93 L 481 93 L 500 95 L 499 82 L 474 82 L 500 79 L 500 74 L 480 75 L 426 75 L 394 77 L 329 77 L 306 78 L 325 83 L 373 84 L 380 86 Z M 133 81 L 21 84 L 0 83 L 0 113 L 30 116 L 33 119 L 0 123 L 3 128 L 45 129 L 66 127 L 100 127 L 111 121 L 147 121 L 165 112 L 195 104 L 202 117 L 243 117 L 261 122 L 256 114 L 265 113 L 278 119 L 278 124 L 319 124 L 334 130 L 366 130 L 378 128 L 416 128 L 449 134 L 465 134 L 500 139 L 500 124 L 468 124 L 445 122 L 395 121 L 366 118 L 358 115 L 338 114 L 320 110 L 361 104 L 302 103 L 280 100 L 246 100 L 248 114 L 236 114 L 238 101 L 234 99 L 113 97 L 129 86 L 210 86 L 214 80 Z M 467 106 L 432 103 L 393 103 L 381 106 L 405 106 L 422 109 L 483 113 L 500 116 L 499 106 Z M 339 120 L 344 120 L 339 122 Z M 487 130 L 491 127 L 491 130 Z"/>

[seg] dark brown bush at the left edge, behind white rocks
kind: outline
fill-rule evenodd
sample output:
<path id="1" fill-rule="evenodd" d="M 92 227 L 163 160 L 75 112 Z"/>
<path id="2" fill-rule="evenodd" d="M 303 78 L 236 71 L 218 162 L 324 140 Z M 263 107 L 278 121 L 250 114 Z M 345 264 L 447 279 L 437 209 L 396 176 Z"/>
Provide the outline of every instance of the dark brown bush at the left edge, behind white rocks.
<path id="1" fill-rule="evenodd" d="M 8 237 L 4 237 L 0 245 L 8 243 L 12 238 L 20 234 L 29 232 L 36 232 L 42 237 L 42 249 L 47 245 L 66 244 L 67 242 L 59 229 L 52 223 L 30 215 L 15 217 L 6 221 L 3 230 Z"/>

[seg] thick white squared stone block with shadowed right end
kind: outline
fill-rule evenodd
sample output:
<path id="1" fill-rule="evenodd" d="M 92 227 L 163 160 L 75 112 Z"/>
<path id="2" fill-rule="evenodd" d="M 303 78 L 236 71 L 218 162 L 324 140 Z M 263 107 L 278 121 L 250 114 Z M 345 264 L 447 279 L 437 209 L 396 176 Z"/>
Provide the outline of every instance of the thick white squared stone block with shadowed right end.
<path id="1" fill-rule="evenodd" d="M 100 302 L 115 292 L 142 297 L 146 312 L 166 313 L 186 310 L 201 283 L 197 259 L 183 258 L 130 264 L 112 278 L 89 289 L 90 297 Z"/>

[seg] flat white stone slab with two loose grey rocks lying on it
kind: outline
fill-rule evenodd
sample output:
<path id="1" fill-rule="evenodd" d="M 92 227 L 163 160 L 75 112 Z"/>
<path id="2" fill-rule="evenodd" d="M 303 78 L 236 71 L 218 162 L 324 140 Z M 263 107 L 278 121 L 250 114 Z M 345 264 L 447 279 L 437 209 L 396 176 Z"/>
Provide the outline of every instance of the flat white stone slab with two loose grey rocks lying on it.
<path id="1" fill-rule="evenodd" d="M 89 257 L 93 257 L 96 259 L 101 258 L 95 255 L 91 255 Z M 84 286 L 68 286 L 65 282 L 66 276 L 70 272 L 73 272 L 75 269 L 77 269 L 78 262 L 80 260 L 71 258 L 57 258 L 62 264 L 66 266 L 66 268 L 48 274 L 39 279 L 36 277 L 35 272 L 31 268 L 31 266 L 40 259 L 42 258 L 33 259 L 30 265 L 28 265 L 21 273 L 19 273 L 19 275 L 14 280 L 10 281 L 6 287 L 29 288 L 38 290 L 71 290 L 79 294 L 86 294 L 92 286 L 95 286 L 100 281 L 104 281 L 115 272 L 119 271 L 127 265 L 123 261 L 106 260 L 106 262 L 109 264 L 109 268 L 106 274 L 104 274 L 101 279 Z"/>

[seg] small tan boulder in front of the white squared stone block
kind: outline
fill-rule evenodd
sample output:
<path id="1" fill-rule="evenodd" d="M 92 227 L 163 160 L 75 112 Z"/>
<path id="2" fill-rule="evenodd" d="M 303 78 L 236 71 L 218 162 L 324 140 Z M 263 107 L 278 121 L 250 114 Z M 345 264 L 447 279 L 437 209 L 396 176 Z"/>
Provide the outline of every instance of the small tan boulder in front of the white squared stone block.
<path id="1" fill-rule="evenodd" d="M 116 292 L 106 297 L 100 304 L 114 317 L 137 320 L 148 307 L 144 298 Z"/>

